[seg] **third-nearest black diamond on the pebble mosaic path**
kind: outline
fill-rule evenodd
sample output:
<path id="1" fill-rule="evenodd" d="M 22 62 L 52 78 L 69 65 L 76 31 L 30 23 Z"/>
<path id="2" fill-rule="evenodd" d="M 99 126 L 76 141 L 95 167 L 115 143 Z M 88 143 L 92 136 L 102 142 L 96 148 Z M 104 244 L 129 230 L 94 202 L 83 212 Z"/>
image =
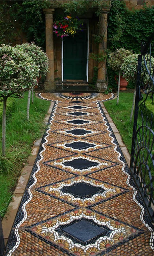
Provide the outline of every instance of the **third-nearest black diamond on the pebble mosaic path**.
<path id="1" fill-rule="evenodd" d="M 87 168 L 92 167 L 92 166 L 97 166 L 98 163 L 97 162 L 92 162 L 92 161 L 89 161 L 89 160 L 83 159 L 83 158 L 77 158 L 77 159 L 74 159 L 72 161 L 66 161 L 66 162 L 63 163 L 63 165 L 71 166 L 75 169 L 83 170 L 83 169 L 87 169 Z"/>

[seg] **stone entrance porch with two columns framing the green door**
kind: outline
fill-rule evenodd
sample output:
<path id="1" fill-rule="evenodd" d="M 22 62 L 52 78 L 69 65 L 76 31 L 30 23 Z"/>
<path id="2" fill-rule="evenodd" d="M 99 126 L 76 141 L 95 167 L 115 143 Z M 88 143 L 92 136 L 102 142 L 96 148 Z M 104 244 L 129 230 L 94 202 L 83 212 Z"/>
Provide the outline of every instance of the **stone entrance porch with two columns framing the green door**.
<path id="1" fill-rule="evenodd" d="M 55 1 L 53 1 L 55 2 Z M 60 2 L 60 1 L 59 1 Z M 106 54 L 107 48 L 107 14 L 110 1 L 102 2 L 101 14 L 96 16 L 96 8 L 89 6 L 84 15 L 86 28 L 74 37 L 60 38 L 53 35 L 53 20 L 61 10 L 56 3 L 51 3 L 51 9 L 45 9 L 46 17 L 46 53 L 49 58 L 49 71 L 46 75 L 45 90 L 54 92 L 56 86 L 73 82 L 92 84 L 96 77 L 96 91 L 101 92 L 107 88 L 106 59 L 98 61 L 98 57 Z M 106 8 L 104 8 L 104 2 Z M 64 13 L 62 14 L 64 15 Z M 94 40 L 95 35 L 101 35 L 101 41 Z M 95 68 L 96 67 L 96 68 Z M 98 69 L 98 72 L 94 72 Z"/>

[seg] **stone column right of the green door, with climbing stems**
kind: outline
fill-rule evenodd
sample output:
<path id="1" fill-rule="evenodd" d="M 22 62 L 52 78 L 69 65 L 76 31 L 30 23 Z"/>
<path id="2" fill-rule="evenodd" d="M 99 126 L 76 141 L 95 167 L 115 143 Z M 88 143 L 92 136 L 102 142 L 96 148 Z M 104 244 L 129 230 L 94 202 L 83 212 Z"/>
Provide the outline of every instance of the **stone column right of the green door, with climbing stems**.
<path id="1" fill-rule="evenodd" d="M 102 35 L 102 42 L 98 45 L 98 54 L 106 56 L 107 49 L 107 14 L 106 9 L 102 9 L 101 18 L 99 20 L 99 34 Z M 96 89 L 103 92 L 107 89 L 106 80 L 106 59 L 98 63 L 98 76 L 96 82 Z"/>

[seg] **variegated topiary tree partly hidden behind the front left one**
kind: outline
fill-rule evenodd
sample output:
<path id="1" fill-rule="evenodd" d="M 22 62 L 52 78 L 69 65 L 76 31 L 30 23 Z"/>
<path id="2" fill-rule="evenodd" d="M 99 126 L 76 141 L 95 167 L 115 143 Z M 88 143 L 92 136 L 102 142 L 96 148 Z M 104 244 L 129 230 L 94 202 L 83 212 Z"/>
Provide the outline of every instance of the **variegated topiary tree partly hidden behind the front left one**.
<path id="1" fill-rule="evenodd" d="M 39 81 L 40 77 L 46 75 L 48 71 L 48 57 L 46 53 L 43 52 L 41 47 L 34 44 L 34 42 L 18 44 L 16 45 L 17 49 L 21 49 L 24 53 L 27 53 L 34 61 L 35 65 L 39 67 L 39 76 L 37 77 L 37 81 Z M 29 119 L 29 108 L 30 108 L 30 97 L 31 97 L 31 89 L 28 93 L 28 102 L 27 102 L 27 119 Z M 32 87 L 32 102 L 33 102 L 33 87 Z"/>

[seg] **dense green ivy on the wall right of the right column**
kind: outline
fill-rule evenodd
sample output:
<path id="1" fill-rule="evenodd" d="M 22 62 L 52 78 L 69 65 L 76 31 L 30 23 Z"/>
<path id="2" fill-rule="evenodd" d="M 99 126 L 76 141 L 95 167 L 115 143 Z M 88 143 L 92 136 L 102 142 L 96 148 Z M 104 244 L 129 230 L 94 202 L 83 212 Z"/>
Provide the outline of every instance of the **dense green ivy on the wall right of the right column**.
<path id="1" fill-rule="evenodd" d="M 154 30 L 154 6 L 130 11 L 124 1 L 111 1 L 108 16 L 108 48 L 115 51 L 124 47 L 140 52 L 142 41 L 147 41 Z"/>

